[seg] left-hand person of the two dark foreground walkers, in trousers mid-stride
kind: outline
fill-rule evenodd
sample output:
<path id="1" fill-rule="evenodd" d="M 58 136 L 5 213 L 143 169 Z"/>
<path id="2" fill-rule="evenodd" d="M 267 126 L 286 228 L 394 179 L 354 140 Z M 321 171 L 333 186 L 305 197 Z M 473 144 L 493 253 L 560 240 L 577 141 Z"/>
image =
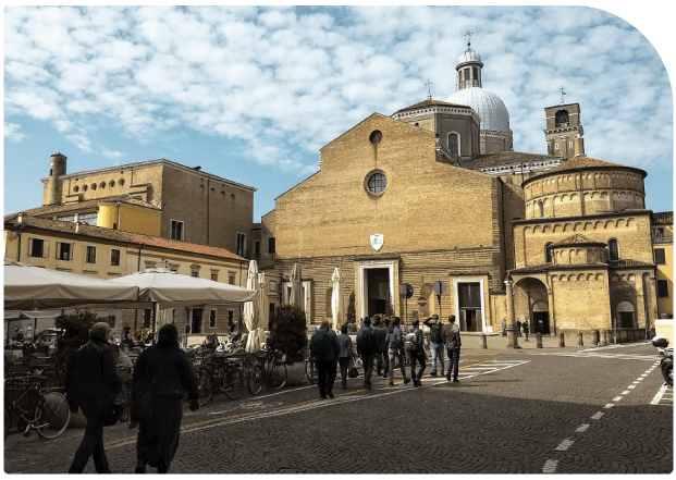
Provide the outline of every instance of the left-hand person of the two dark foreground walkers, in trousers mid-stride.
<path id="1" fill-rule="evenodd" d="M 112 404 L 121 383 L 115 360 L 108 343 L 111 332 L 106 322 L 89 329 L 89 342 L 71 357 L 65 379 L 65 395 L 72 413 L 81 408 L 87 420 L 85 435 L 75 452 L 70 475 L 81 475 L 89 457 L 98 475 L 112 473 L 103 450 L 105 405 Z"/>

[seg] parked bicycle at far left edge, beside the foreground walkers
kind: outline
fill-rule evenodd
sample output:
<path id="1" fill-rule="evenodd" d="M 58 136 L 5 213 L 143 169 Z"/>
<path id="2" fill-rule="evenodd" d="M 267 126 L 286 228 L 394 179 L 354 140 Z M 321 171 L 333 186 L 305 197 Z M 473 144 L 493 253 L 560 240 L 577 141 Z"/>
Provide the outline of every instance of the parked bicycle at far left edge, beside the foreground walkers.
<path id="1" fill-rule="evenodd" d="M 41 438 L 51 440 L 65 431 L 71 420 L 71 409 L 62 387 L 41 386 L 47 380 L 47 377 L 28 376 L 3 381 L 3 439 L 10 433 L 13 414 L 19 416 L 17 427 L 24 431 L 24 436 L 29 436 L 30 429 L 35 429 Z M 12 398 L 13 394 L 20 392 L 23 393 L 16 399 Z"/>

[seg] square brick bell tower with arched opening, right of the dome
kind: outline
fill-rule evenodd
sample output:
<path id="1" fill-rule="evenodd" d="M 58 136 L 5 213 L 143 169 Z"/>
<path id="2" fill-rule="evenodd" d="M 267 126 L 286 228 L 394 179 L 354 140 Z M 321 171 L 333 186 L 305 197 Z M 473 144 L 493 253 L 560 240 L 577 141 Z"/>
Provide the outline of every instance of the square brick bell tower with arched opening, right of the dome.
<path id="1" fill-rule="evenodd" d="M 573 158 L 585 155 L 585 131 L 580 122 L 580 104 L 564 103 L 564 88 L 561 87 L 561 103 L 544 109 L 546 128 L 546 152 L 556 157 Z"/>

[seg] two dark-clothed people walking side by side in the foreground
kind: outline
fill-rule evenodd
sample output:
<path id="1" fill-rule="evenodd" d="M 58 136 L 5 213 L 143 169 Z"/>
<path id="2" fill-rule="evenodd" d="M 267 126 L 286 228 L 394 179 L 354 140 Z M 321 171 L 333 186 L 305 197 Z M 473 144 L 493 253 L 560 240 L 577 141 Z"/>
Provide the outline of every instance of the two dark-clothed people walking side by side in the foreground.
<path id="1" fill-rule="evenodd" d="M 89 457 L 98 475 L 112 473 L 103 450 L 103 427 L 122 385 L 110 337 L 108 323 L 95 323 L 89 330 L 89 342 L 69 361 L 65 376 L 69 407 L 73 413 L 82 409 L 87 420 L 69 473 L 83 473 Z M 179 331 L 173 324 L 163 325 L 158 343 L 146 348 L 136 360 L 132 398 L 139 397 L 147 389 L 152 389 L 152 414 L 138 421 L 135 473 L 145 473 L 147 465 L 157 468 L 158 473 L 167 473 L 179 447 L 183 399 L 189 401 L 190 410 L 199 408 L 193 367 L 179 346 Z"/>

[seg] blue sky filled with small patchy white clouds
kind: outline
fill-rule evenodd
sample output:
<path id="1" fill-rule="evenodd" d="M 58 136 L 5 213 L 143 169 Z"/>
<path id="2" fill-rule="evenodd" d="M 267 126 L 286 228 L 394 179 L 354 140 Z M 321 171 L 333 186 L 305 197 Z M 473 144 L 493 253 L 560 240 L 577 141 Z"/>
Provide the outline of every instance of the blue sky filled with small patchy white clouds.
<path id="1" fill-rule="evenodd" d="M 345 131 L 425 100 L 428 81 L 433 99 L 453 94 L 467 32 L 516 151 L 546 153 L 563 86 L 586 153 L 646 170 L 647 208 L 674 209 L 667 70 L 600 9 L 54 5 L 3 10 L 3 213 L 41 205 L 60 151 L 67 173 L 200 165 L 257 188 L 259 222 Z"/>

